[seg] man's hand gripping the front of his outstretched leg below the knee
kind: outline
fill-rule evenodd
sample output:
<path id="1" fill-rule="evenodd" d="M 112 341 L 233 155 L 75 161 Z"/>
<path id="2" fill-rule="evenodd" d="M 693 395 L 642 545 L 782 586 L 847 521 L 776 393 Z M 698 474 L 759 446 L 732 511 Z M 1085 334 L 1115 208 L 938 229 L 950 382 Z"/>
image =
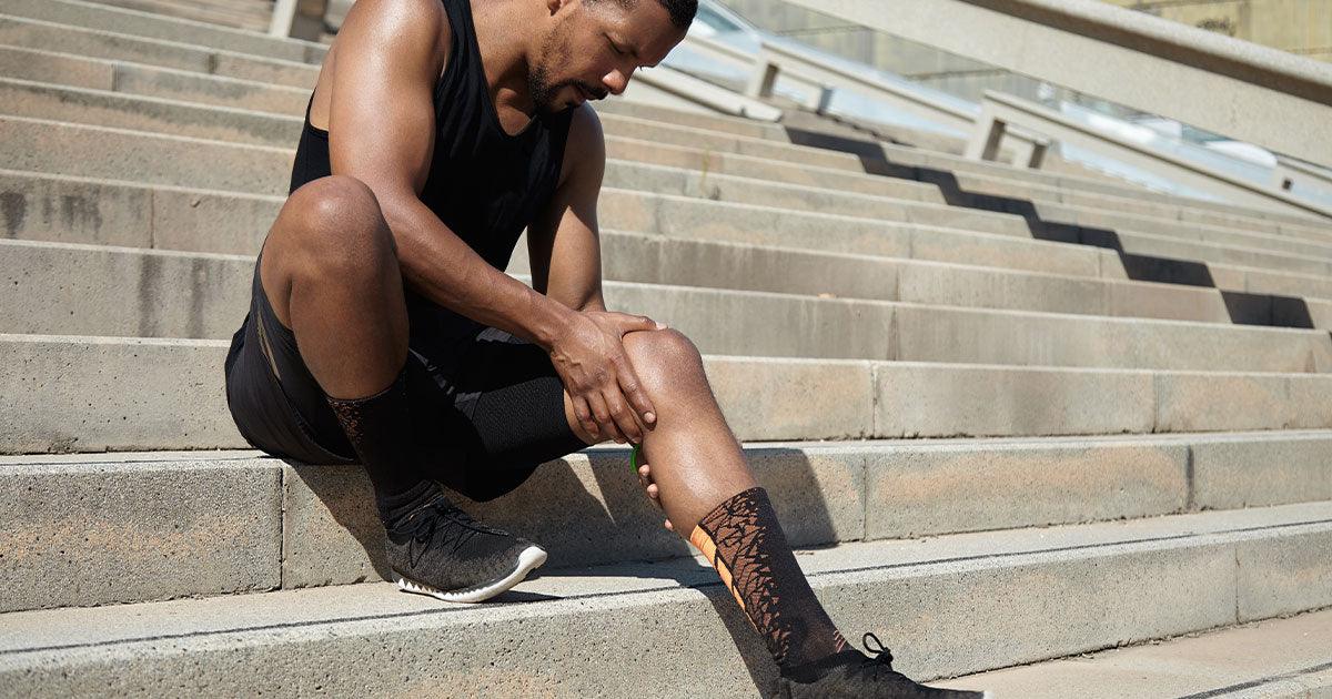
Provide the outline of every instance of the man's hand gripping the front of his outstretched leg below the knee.
<path id="1" fill-rule="evenodd" d="M 623 337 L 634 330 L 665 330 L 646 316 L 607 310 L 574 312 L 550 348 L 550 362 L 573 399 L 574 415 L 593 437 L 642 443 L 657 422 L 638 381 Z"/>

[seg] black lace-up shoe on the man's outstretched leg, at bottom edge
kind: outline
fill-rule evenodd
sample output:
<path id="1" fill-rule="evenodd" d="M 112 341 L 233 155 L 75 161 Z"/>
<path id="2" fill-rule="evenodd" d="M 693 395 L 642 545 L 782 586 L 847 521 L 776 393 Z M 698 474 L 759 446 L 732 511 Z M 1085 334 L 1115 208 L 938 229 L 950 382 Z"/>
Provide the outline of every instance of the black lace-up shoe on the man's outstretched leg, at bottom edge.
<path id="1" fill-rule="evenodd" d="M 878 646 L 870 648 L 870 639 Z M 892 670 L 892 654 L 874 634 L 866 634 L 866 656 L 855 648 L 783 671 L 777 680 L 781 699 L 988 699 L 990 692 L 926 687 Z"/>

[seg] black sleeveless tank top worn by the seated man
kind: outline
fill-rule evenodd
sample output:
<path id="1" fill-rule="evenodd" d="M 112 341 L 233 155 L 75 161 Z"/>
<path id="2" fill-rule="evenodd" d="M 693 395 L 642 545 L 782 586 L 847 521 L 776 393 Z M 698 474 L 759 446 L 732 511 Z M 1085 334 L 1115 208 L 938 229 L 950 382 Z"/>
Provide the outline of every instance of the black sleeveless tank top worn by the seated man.
<path id="1" fill-rule="evenodd" d="M 505 133 L 490 100 L 470 0 L 441 1 L 453 48 L 434 88 L 434 157 L 421 201 L 486 262 L 503 270 L 522 230 L 559 181 L 573 111 L 538 115 L 521 133 Z M 290 192 L 329 174 L 328 132 L 310 124 L 306 108 Z M 460 338 L 484 328 L 410 289 L 406 297 L 412 349 L 437 362 L 444 361 L 441 354 L 452 354 Z"/>

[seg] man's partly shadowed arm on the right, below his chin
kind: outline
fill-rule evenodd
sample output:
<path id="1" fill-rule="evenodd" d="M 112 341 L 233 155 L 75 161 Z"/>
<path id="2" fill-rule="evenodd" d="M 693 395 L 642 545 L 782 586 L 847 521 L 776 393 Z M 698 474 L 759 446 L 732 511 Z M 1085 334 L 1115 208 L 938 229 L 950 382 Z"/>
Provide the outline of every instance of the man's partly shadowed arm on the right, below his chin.
<path id="1" fill-rule="evenodd" d="M 546 210 L 527 226 L 533 289 L 574 310 L 606 310 L 597 229 L 605 172 L 601 120 L 590 105 L 579 105 L 569 124 L 559 184 Z"/>

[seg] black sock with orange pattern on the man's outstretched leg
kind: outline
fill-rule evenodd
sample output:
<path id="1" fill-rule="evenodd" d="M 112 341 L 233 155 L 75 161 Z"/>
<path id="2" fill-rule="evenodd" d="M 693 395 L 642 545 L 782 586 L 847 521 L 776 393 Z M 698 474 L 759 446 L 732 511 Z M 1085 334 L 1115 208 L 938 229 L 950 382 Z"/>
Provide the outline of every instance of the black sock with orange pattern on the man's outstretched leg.
<path id="1" fill-rule="evenodd" d="M 847 647 L 795 562 L 762 487 L 718 505 L 698 522 L 689 542 L 713 562 L 782 668 Z"/>

